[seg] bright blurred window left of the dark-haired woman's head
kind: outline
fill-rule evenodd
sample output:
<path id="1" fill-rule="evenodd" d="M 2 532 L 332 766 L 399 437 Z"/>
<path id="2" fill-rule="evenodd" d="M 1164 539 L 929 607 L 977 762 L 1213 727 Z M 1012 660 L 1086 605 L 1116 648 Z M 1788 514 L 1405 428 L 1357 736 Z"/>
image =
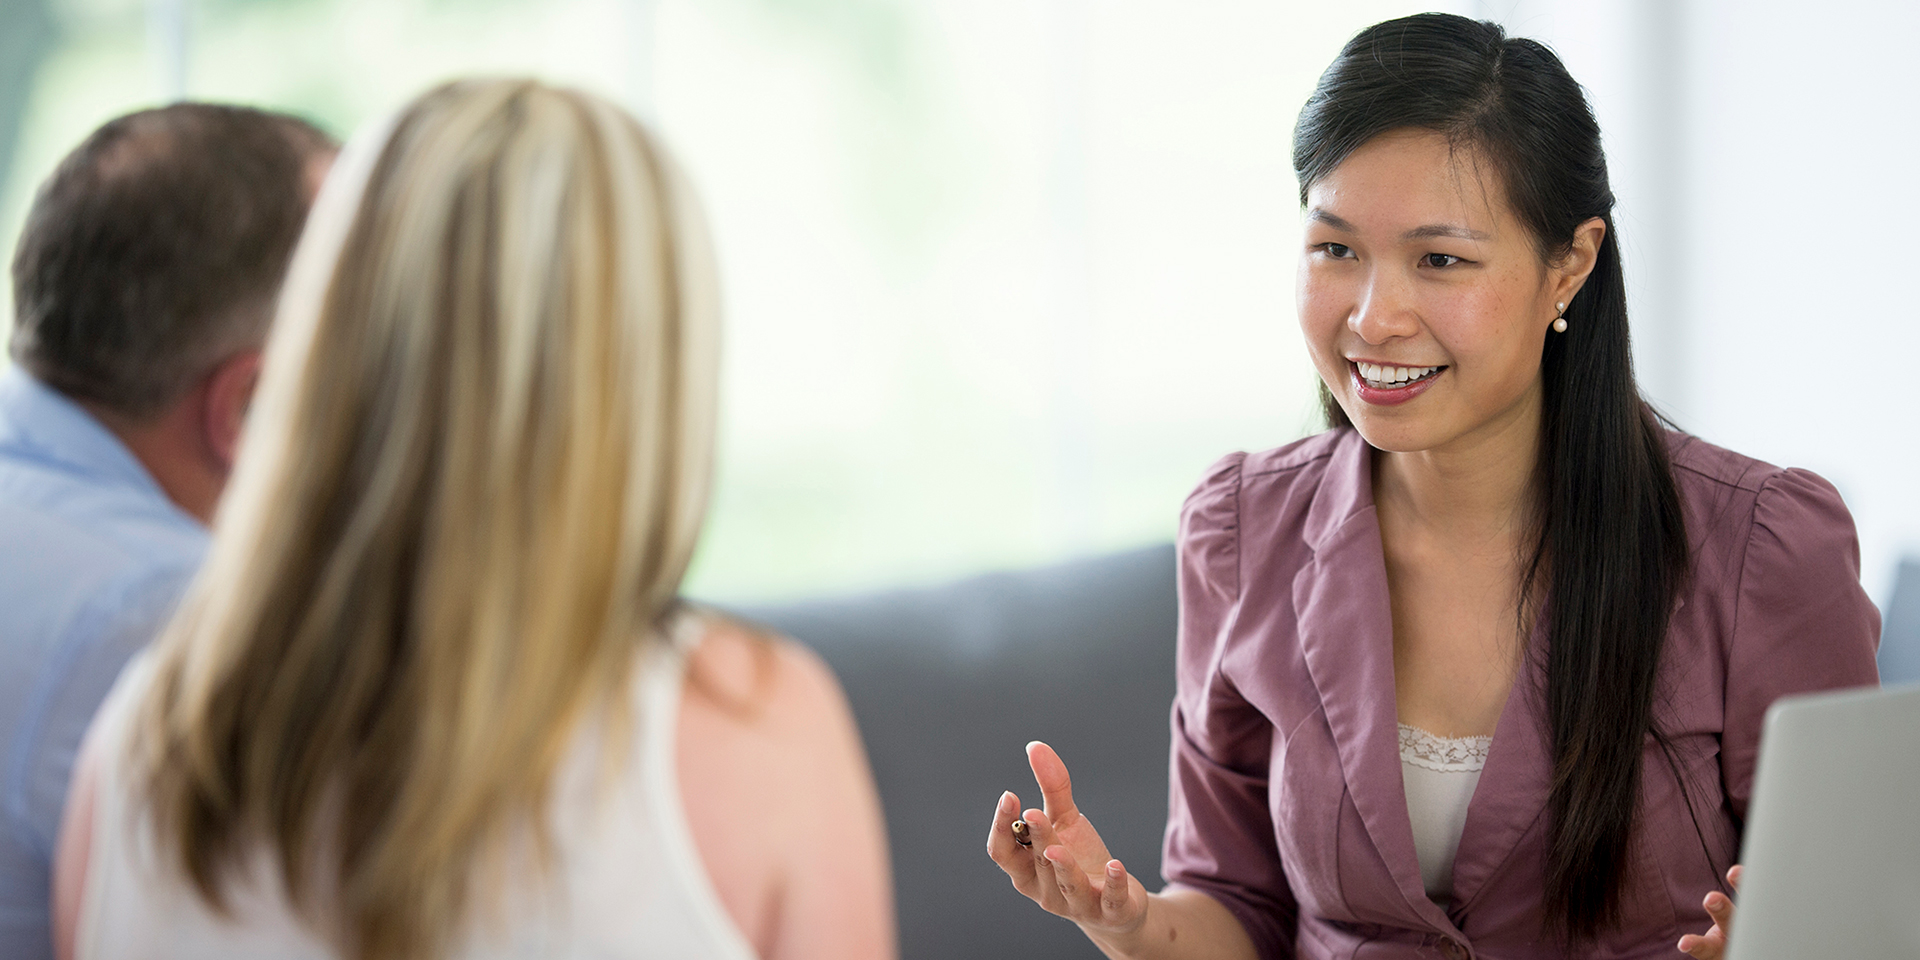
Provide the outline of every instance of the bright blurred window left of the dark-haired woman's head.
<path id="1" fill-rule="evenodd" d="M 691 589 L 924 582 L 1173 536 L 1315 424 L 1288 140 L 1388 0 L 27 0 L 58 25 L 0 228 L 86 131 L 188 96 L 336 132 L 461 73 L 653 117 L 720 246 Z M 0 31 L 8 29 L 0 23 Z M 4 144 L 4 140 L 0 140 Z"/>

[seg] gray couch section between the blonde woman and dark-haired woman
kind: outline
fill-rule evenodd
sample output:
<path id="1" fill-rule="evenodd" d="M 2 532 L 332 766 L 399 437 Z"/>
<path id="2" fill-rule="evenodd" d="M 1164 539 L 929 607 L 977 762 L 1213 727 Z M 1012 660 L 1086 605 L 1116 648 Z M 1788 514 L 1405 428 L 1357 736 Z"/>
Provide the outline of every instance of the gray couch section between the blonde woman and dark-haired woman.
<path id="1" fill-rule="evenodd" d="M 1098 958 L 987 858 L 1002 789 L 1037 806 L 1052 743 L 1114 856 L 1160 887 L 1173 703 L 1173 547 L 778 607 L 733 607 L 820 651 L 866 737 L 908 960 Z"/>

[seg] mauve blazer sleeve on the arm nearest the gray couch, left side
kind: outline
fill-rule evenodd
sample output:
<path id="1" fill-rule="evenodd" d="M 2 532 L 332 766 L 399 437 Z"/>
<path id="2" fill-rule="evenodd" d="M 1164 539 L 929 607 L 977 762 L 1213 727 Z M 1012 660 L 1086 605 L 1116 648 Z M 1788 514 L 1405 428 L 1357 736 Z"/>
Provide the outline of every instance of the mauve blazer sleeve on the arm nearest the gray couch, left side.
<path id="1" fill-rule="evenodd" d="M 1219 672 L 1240 597 L 1242 461 L 1219 461 L 1181 513 L 1179 678 L 1162 870 L 1169 885 L 1219 900 L 1260 956 L 1284 958 L 1294 954 L 1300 910 L 1267 808 L 1273 726 Z"/>

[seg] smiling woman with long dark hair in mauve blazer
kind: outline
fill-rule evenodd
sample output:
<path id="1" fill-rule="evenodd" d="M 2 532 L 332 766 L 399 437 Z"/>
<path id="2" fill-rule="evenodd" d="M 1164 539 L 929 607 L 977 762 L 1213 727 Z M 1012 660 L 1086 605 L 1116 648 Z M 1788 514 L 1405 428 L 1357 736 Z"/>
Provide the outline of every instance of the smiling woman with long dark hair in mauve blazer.
<path id="1" fill-rule="evenodd" d="M 1110 956 L 1718 954 L 1761 716 L 1872 684 L 1878 614 L 1830 484 L 1640 397 L 1599 144 L 1492 23 L 1380 23 L 1321 77 L 1294 171 L 1331 430 L 1187 501 L 1171 883 L 1043 745 L 1044 810 L 1006 795 L 989 837 Z"/>

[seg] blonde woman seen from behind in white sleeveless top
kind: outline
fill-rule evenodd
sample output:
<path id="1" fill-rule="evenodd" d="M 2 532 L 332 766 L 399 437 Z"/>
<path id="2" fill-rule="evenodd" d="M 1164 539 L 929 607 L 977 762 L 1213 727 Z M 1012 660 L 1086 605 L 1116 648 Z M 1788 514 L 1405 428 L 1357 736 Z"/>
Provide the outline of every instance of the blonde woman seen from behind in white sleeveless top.
<path id="1" fill-rule="evenodd" d="M 61 956 L 891 958 L 839 687 L 676 599 L 716 340 L 616 108 L 455 83 L 349 148 L 207 568 L 88 735 Z"/>

